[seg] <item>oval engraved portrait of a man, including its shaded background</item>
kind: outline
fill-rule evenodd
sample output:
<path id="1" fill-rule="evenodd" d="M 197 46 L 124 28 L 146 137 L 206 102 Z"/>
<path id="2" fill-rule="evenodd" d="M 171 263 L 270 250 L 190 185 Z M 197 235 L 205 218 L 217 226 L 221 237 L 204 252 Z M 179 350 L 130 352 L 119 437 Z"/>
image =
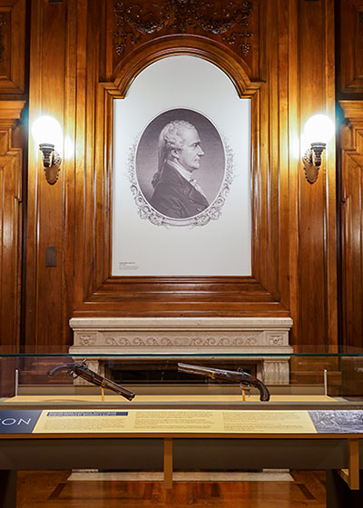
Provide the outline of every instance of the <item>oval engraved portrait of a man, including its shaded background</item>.
<path id="1" fill-rule="evenodd" d="M 161 112 L 143 130 L 136 149 L 135 175 L 142 196 L 151 213 L 172 225 L 203 216 L 221 191 L 225 166 L 220 133 L 205 115 L 191 109 Z"/>

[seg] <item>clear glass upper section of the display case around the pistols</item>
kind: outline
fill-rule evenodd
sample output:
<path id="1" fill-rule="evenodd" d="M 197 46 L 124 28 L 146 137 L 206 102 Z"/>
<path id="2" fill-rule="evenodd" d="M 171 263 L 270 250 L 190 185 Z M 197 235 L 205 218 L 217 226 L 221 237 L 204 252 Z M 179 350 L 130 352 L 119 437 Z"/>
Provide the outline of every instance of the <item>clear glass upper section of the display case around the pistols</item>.
<path id="1" fill-rule="evenodd" d="M 359 352 L 270 354 L 3 354 L 0 405 L 15 407 L 216 407 L 356 408 L 363 405 L 363 354 Z M 178 364 L 238 372 L 257 378 L 270 392 L 263 400 L 247 381 L 213 379 L 182 372 Z M 96 386 L 72 370 L 85 366 L 99 378 L 123 386 L 131 400 Z M 288 368 L 284 379 L 276 369 Z M 56 368 L 59 366 L 59 368 Z M 61 367 L 62 366 L 62 367 Z M 268 367 L 267 367 L 268 366 Z M 273 366 L 273 372 L 269 366 Z M 55 369 L 51 376 L 52 369 Z M 276 381 L 277 380 L 277 381 Z M 243 388 L 243 389 L 241 389 Z M 260 400 L 262 398 L 262 400 Z"/>

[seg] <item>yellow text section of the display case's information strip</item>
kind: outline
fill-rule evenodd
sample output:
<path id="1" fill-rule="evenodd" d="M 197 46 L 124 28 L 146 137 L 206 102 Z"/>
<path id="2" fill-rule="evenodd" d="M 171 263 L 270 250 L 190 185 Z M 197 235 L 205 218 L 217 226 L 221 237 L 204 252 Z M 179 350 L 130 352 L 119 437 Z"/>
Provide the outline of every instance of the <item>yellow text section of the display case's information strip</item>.
<path id="1" fill-rule="evenodd" d="M 103 414 L 103 417 L 98 417 Z M 72 417 L 69 417 L 72 416 Z M 307 411 L 44 411 L 34 433 L 316 434 Z"/>

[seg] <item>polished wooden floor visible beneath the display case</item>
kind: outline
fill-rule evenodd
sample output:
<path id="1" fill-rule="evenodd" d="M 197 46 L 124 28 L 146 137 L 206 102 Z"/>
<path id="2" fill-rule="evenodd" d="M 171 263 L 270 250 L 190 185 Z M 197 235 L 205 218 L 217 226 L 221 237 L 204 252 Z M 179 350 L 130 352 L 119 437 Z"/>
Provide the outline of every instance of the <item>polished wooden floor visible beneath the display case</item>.
<path id="1" fill-rule="evenodd" d="M 294 482 L 67 482 L 69 471 L 19 472 L 17 508 L 325 508 L 325 474 Z"/>

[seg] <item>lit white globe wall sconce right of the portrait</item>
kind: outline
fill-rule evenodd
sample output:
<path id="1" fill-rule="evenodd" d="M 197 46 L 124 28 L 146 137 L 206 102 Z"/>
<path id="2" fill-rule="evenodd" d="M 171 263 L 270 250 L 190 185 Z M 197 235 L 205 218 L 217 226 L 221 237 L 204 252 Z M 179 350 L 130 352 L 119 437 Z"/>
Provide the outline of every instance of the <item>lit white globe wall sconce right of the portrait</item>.
<path id="1" fill-rule="evenodd" d="M 311 116 L 305 123 L 303 140 L 309 146 L 302 157 L 305 176 L 309 183 L 318 180 L 319 168 L 321 166 L 321 155 L 327 146 L 327 142 L 335 132 L 334 122 L 326 114 Z"/>

